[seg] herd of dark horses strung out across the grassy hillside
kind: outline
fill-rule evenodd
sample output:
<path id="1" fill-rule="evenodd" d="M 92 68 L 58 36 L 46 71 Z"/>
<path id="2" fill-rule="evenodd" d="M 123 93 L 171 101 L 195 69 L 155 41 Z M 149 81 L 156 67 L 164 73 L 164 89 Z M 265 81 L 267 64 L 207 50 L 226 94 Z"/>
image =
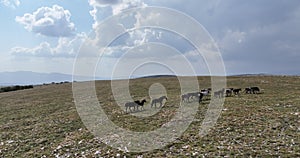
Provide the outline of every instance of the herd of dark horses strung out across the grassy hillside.
<path id="1" fill-rule="evenodd" d="M 229 97 L 233 95 L 240 95 L 241 92 L 242 92 L 242 88 L 222 88 L 221 90 L 214 91 L 213 96 L 216 98 L 223 98 L 224 96 Z M 247 87 L 244 89 L 243 92 L 246 94 L 257 94 L 260 92 L 260 89 L 259 87 Z M 205 96 L 210 96 L 210 95 L 211 95 L 211 88 L 202 89 L 200 90 L 200 92 L 190 92 L 190 93 L 182 94 L 181 101 L 186 103 L 189 103 L 191 101 L 198 101 L 200 103 Z M 161 96 L 159 98 L 152 99 L 151 108 L 152 107 L 156 108 L 157 104 L 159 104 L 159 107 L 162 107 L 164 100 L 167 101 L 168 98 L 166 96 Z M 128 110 L 130 112 L 132 112 L 132 110 L 139 111 L 139 107 L 141 108 L 141 110 L 144 110 L 145 102 L 147 102 L 146 99 L 127 102 L 125 103 L 125 110 L 126 112 Z"/>

